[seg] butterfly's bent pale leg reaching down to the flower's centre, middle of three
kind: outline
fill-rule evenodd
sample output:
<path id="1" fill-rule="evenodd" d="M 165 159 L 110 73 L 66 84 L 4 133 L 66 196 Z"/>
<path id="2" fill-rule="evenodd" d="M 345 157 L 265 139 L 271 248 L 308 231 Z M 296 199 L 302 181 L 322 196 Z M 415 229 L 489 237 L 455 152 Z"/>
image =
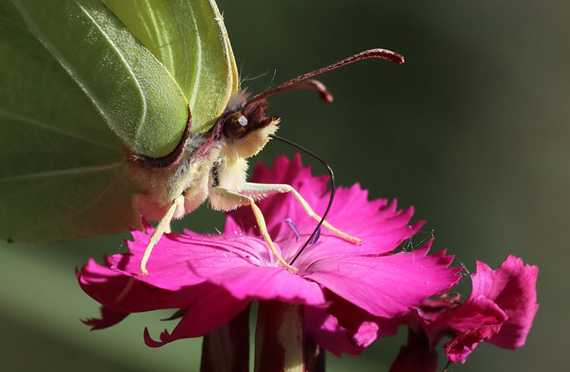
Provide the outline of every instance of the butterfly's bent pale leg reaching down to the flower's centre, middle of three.
<path id="1" fill-rule="evenodd" d="M 284 265 L 287 269 L 291 270 L 291 272 L 297 272 L 298 270 L 295 267 L 289 265 L 286 260 L 281 257 L 275 245 L 273 244 L 273 240 L 271 240 L 271 236 L 269 236 L 269 232 L 267 231 L 267 226 L 265 224 L 265 218 L 261 210 L 256 205 L 254 198 L 247 195 L 242 195 L 241 193 L 234 193 L 233 191 L 229 191 L 227 188 L 214 186 L 210 188 L 209 191 L 209 198 L 212 203 L 212 207 L 214 209 L 219 209 L 222 211 L 231 211 L 234 208 L 239 206 L 251 206 L 252 211 L 254 213 L 255 221 L 257 222 L 257 226 L 259 227 L 259 231 L 261 235 L 264 237 L 265 241 L 269 245 L 271 249 L 271 253 L 274 254 L 277 260 L 281 262 L 281 265 Z"/>

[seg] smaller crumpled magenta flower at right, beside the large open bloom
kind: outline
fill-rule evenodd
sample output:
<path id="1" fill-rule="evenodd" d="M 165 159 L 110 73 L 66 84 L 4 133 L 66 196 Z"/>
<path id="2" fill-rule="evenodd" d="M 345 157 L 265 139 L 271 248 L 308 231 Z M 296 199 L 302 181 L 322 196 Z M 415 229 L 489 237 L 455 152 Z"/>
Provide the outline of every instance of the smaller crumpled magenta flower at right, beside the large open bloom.
<path id="1" fill-rule="evenodd" d="M 445 294 L 412 311 L 408 345 L 400 349 L 390 371 L 435 371 L 433 348 L 442 336 L 453 338 L 443 346 L 452 363 L 465 363 L 482 341 L 504 349 L 523 346 L 539 307 L 537 275 L 538 267 L 524 265 L 514 255 L 497 270 L 477 261 L 477 273 L 471 275 L 473 289 L 465 302 L 459 295 Z"/>

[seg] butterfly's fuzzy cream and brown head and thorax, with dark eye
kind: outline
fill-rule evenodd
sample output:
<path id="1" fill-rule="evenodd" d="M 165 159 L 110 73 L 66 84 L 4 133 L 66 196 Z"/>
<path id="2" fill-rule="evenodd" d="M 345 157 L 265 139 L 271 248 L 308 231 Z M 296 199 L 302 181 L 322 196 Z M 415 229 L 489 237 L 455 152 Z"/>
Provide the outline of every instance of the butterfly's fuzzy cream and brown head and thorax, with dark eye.
<path id="1" fill-rule="evenodd" d="M 279 124 L 279 117 L 266 116 L 267 107 L 266 100 L 250 103 L 247 93 L 237 92 L 212 129 L 183 138 L 181 154 L 176 154 L 177 147 L 168 155 L 170 164 L 130 155 L 133 178 L 141 188 L 133 201 L 138 212 L 158 219 L 180 195 L 185 204 L 175 213 L 177 218 L 194 211 L 208 196 L 212 208 L 227 210 L 210 191 L 219 187 L 238 192 L 245 183 L 247 158 L 263 149 Z"/>

